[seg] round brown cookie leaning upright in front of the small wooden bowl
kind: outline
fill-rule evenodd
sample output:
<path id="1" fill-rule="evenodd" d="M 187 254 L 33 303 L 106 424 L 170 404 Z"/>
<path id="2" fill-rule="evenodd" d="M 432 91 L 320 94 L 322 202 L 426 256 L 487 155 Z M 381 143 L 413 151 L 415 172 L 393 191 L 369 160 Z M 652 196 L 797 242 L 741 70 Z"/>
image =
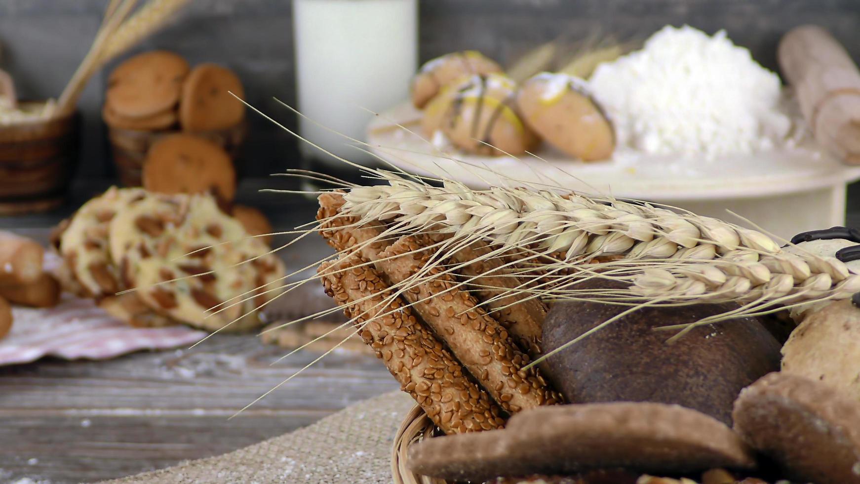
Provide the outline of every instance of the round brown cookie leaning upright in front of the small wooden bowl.
<path id="1" fill-rule="evenodd" d="M 172 134 L 153 144 L 142 178 L 151 192 L 212 192 L 228 203 L 236 196 L 236 168 L 230 155 L 218 144 L 190 134 Z"/>

